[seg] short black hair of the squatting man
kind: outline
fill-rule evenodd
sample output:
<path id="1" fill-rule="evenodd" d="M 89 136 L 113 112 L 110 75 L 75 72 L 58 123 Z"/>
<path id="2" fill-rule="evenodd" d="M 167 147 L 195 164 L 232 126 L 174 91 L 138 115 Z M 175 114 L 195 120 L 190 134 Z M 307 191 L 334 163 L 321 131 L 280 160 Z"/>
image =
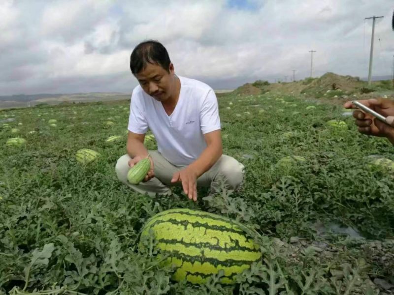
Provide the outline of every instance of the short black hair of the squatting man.
<path id="1" fill-rule="evenodd" d="M 139 43 L 131 53 L 130 69 L 131 73 L 136 74 L 143 70 L 147 63 L 160 65 L 169 72 L 168 52 L 159 41 L 147 40 Z"/>

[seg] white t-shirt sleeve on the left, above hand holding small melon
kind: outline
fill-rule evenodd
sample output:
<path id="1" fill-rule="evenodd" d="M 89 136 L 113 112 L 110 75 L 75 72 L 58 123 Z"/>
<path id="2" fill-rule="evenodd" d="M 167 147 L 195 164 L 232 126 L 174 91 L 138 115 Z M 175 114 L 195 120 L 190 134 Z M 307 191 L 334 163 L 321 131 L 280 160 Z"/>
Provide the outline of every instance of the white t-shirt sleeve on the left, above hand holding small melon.
<path id="1" fill-rule="evenodd" d="M 129 131 L 144 134 L 148 131 L 148 122 L 145 116 L 145 108 L 141 104 L 141 97 L 137 91 L 131 94 Z"/>

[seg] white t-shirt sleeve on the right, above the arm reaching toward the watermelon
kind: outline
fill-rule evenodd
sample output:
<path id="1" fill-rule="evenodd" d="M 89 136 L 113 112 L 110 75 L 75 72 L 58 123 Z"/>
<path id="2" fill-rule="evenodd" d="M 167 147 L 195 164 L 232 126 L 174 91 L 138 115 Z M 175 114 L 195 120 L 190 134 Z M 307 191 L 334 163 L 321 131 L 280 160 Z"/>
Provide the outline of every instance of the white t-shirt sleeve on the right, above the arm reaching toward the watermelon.
<path id="1" fill-rule="evenodd" d="M 200 126 L 202 134 L 220 129 L 218 100 L 212 89 L 208 91 L 208 94 L 202 102 Z"/>

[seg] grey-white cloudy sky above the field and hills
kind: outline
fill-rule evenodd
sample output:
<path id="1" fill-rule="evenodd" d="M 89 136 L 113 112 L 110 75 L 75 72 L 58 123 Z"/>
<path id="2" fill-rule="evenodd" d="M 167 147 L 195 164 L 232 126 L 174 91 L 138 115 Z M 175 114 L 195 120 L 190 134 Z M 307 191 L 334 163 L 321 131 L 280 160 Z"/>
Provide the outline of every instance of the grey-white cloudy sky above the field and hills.
<path id="1" fill-rule="evenodd" d="M 0 0 L 0 95 L 131 93 L 129 61 L 145 39 L 175 73 L 234 89 L 330 71 L 390 75 L 393 0 Z"/>

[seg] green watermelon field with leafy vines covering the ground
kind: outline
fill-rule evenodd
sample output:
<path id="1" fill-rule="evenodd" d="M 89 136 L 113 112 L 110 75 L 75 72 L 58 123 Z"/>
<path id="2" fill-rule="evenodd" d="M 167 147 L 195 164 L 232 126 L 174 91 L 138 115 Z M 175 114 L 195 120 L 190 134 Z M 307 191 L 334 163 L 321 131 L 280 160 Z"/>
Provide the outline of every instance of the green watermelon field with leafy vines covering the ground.
<path id="1" fill-rule="evenodd" d="M 342 106 L 303 96 L 229 93 L 219 104 L 224 153 L 245 181 L 201 189 L 197 203 L 179 187 L 150 198 L 118 181 L 129 101 L 0 111 L 0 294 L 392 294 L 393 146 L 359 134 Z M 83 165 L 83 148 L 99 156 Z M 230 285 L 222 271 L 173 281 L 155 240 L 138 247 L 147 220 L 172 208 L 247 226 L 261 260 Z"/>

